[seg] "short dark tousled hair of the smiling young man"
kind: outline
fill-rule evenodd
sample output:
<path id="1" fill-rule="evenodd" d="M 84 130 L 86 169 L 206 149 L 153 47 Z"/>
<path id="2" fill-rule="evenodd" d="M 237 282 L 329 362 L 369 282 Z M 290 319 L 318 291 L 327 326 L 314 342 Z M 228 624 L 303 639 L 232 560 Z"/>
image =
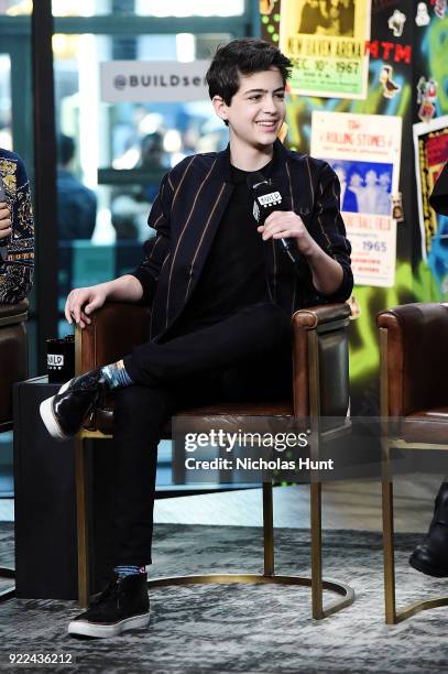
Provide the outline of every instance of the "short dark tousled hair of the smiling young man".
<path id="1" fill-rule="evenodd" d="M 211 61 L 206 75 L 208 94 L 211 99 L 220 96 L 230 106 L 240 86 L 240 74 L 251 75 L 271 67 L 278 68 L 286 85 L 292 63 L 277 47 L 253 37 L 232 40 L 219 47 Z"/>

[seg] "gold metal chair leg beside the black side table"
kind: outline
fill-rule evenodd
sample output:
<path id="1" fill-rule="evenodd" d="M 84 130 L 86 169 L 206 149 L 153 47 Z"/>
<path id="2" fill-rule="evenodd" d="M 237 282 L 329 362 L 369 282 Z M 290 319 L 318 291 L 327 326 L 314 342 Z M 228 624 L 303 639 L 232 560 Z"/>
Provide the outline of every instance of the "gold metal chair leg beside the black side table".
<path id="1" fill-rule="evenodd" d="M 88 559 L 88 504 L 86 447 L 83 437 L 75 438 L 76 452 L 76 502 L 78 531 L 78 601 L 85 608 L 89 601 L 89 559 Z"/>

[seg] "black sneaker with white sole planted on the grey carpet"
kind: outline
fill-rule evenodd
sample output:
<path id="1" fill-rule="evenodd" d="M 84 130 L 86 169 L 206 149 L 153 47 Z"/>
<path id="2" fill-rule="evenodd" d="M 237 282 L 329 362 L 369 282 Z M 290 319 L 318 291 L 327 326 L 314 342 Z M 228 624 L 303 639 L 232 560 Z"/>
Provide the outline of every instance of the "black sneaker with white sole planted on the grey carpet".
<path id="1" fill-rule="evenodd" d="M 68 626 L 68 633 L 105 639 L 150 622 L 146 574 L 116 576 L 91 602 L 89 609 Z"/>

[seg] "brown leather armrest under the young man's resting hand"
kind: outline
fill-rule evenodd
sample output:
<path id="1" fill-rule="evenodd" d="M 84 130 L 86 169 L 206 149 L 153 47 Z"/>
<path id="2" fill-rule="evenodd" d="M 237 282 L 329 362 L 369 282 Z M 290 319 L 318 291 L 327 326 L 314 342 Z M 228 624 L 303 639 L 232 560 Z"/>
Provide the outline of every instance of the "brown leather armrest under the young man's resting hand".
<path id="1" fill-rule="evenodd" d="M 75 329 L 76 373 L 116 362 L 150 338 L 147 306 L 107 302 L 83 330 Z"/>

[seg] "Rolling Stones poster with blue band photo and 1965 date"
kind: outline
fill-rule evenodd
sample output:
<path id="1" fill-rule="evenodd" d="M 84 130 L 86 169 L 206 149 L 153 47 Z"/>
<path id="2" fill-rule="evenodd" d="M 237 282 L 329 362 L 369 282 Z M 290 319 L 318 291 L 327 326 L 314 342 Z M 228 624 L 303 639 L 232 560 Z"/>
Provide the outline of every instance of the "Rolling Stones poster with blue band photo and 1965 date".
<path id="1" fill-rule="evenodd" d="M 336 172 L 357 285 L 391 287 L 395 279 L 402 118 L 313 112 L 312 156 Z"/>

